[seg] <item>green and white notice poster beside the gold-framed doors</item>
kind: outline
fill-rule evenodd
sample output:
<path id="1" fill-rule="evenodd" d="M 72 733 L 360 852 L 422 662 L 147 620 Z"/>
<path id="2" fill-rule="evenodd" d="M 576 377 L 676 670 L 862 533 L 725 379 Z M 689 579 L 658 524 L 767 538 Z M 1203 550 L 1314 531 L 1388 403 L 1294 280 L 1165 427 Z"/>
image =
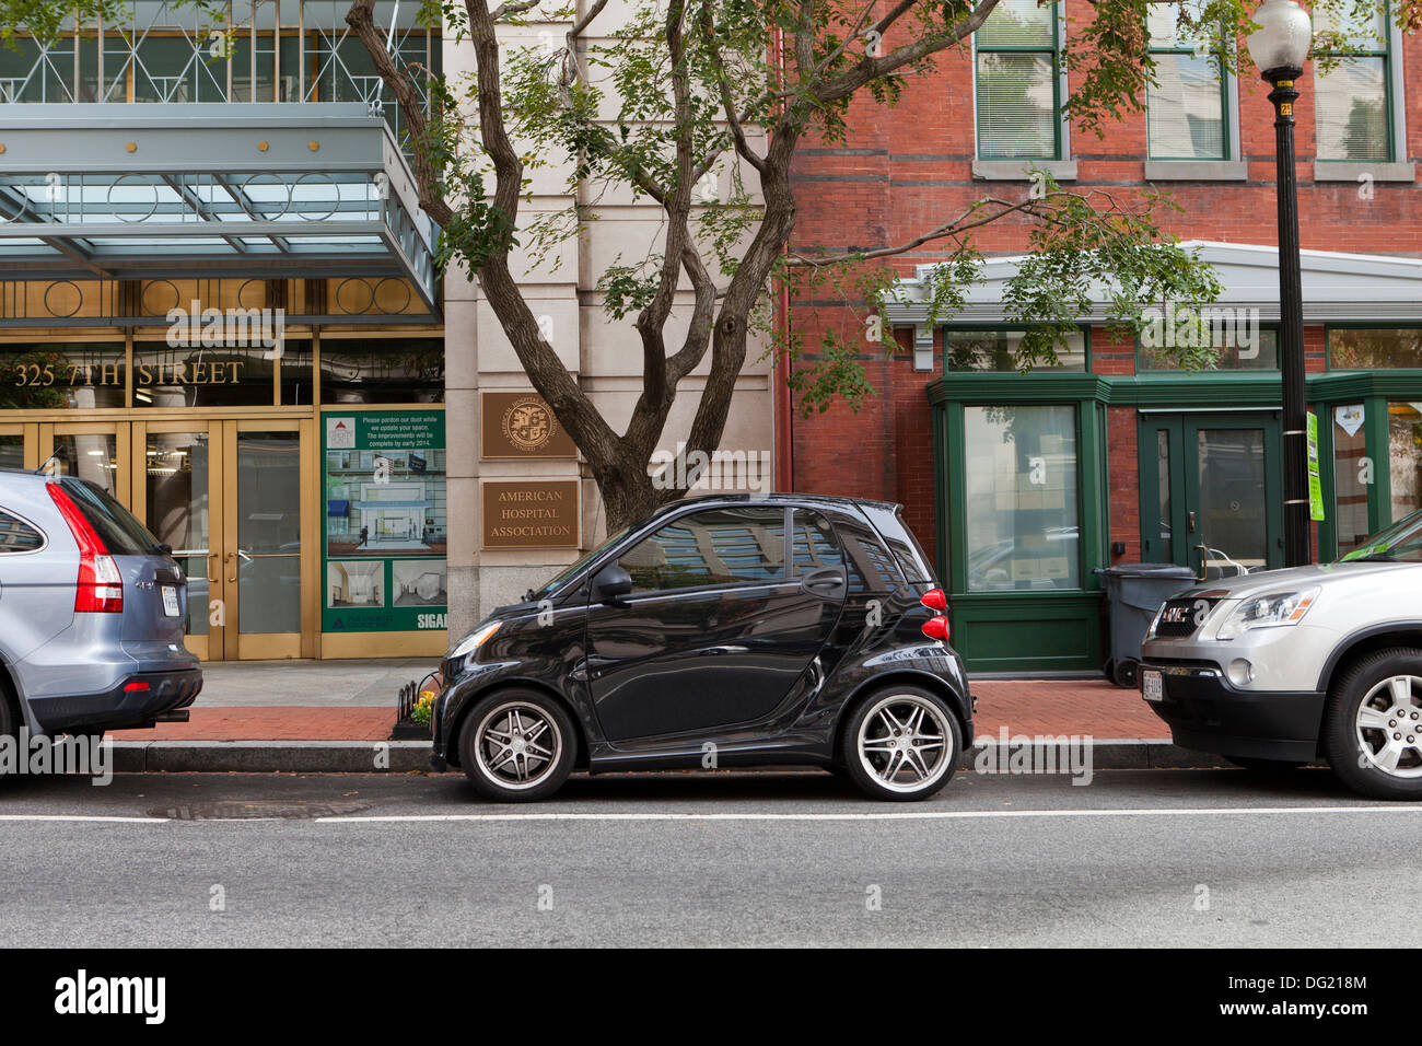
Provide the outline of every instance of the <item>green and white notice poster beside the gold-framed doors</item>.
<path id="1" fill-rule="evenodd" d="M 323 632 L 448 626 L 442 410 L 321 417 Z"/>

